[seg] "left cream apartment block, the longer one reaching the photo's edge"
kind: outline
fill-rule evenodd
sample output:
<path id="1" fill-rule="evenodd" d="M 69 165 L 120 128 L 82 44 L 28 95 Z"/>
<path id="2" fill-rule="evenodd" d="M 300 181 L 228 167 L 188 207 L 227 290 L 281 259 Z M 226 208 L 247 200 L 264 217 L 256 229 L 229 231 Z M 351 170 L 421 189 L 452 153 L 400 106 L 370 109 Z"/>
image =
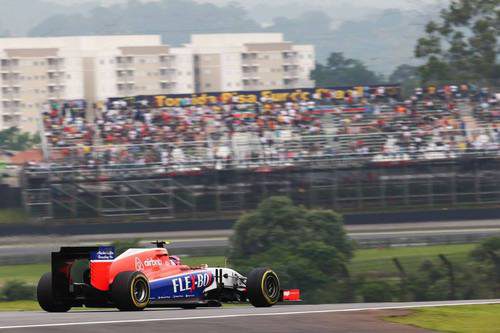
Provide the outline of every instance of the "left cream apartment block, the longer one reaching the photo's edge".
<path id="1" fill-rule="evenodd" d="M 157 35 L 0 38 L 0 128 L 36 132 L 49 101 L 194 92 L 193 56 Z"/>

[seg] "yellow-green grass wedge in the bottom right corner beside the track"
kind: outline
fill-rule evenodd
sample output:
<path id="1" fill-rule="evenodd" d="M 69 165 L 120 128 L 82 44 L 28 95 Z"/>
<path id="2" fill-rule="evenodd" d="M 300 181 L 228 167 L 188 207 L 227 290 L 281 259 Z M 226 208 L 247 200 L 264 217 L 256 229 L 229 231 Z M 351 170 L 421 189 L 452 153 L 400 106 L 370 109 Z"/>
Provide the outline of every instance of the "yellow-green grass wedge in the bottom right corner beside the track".
<path id="1" fill-rule="evenodd" d="M 496 333 L 500 332 L 500 305 L 423 308 L 408 316 L 385 319 L 438 332 Z"/>

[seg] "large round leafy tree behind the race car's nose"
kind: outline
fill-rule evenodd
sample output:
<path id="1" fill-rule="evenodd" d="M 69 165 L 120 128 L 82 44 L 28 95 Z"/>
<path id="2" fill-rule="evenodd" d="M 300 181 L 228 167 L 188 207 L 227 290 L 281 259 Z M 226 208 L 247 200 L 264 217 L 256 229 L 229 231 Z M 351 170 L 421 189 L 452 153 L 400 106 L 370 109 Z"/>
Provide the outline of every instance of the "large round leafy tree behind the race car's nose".
<path id="1" fill-rule="evenodd" d="M 229 258 L 236 269 L 270 266 L 283 285 L 301 289 L 309 302 L 338 301 L 348 294 L 327 287 L 345 282 L 352 257 L 341 215 L 271 197 L 243 215 L 234 231 Z"/>

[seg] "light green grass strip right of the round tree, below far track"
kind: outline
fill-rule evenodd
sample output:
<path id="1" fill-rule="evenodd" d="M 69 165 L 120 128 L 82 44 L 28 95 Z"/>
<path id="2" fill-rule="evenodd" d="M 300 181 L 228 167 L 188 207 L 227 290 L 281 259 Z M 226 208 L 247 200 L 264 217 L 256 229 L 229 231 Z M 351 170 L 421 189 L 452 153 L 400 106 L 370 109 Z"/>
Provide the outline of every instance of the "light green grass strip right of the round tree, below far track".
<path id="1" fill-rule="evenodd" d="M 407 272 L 411 272 L 424 260 L 438 260 L 439 254 L 446 255 L 454 263 L 465 262 L 475 246 L 475 244 L 459 244 L 363 249 L 356 251 L 349 264 L 349 270 L 354 274 L 395 276 L 398 271 L 392 261 L 393 258 L 398 258 Z"/>

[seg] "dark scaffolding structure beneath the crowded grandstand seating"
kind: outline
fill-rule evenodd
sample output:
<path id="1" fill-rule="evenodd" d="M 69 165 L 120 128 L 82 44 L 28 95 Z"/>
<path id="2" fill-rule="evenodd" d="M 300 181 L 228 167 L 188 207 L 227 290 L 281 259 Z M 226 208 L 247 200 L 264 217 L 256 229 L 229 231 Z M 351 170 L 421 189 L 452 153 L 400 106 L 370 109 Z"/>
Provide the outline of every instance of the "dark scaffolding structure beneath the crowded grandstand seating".
<path id="1" fill-rule="evenodd" d="M 497 157 L 358 168 L 261 168 L 114 179 L 26 174 L 25 204 L 49 219 L 236 216 L 262 198 L 286 195 L 340 212 L 436 209 L 500 204 Z M 108 174 L 109 177 L 109 174 Z"/>

